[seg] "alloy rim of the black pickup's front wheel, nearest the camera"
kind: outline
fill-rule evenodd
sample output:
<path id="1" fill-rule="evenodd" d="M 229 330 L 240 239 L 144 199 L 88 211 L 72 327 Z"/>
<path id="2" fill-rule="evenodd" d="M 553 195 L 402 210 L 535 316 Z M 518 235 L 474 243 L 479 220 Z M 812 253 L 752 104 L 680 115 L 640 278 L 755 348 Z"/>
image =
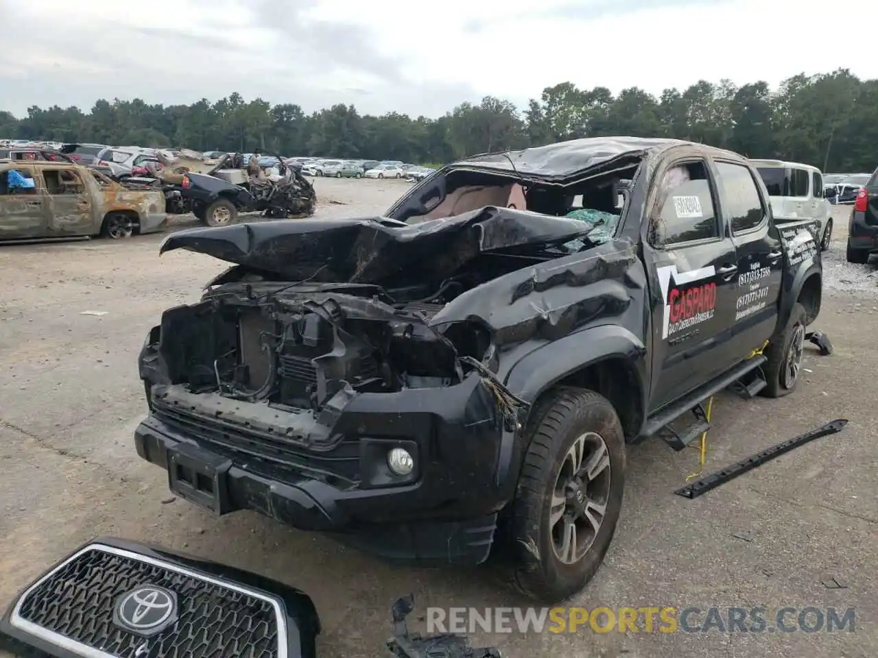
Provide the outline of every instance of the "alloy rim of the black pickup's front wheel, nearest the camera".
<path id="1" fill-rule="evenodd" d="M 549 529 L 558 561 L 575 564 L 594 544 L 607 514 L 610 477 L 603 437 L 581 434 L 565 454 L 552 490 Z"/>

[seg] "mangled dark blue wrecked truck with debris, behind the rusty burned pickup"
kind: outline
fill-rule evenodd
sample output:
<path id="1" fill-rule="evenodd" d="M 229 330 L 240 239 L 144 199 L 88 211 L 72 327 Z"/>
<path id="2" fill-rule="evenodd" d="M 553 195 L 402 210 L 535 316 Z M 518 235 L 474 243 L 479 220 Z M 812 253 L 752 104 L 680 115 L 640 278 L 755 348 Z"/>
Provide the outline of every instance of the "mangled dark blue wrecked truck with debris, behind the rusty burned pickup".
<path id="1" fill-rule="evenodd" d="M 158 154 L 155 162 L 145 163 L 148 176 L 130 178 L 126 185 L 161 187 L 169 213 L 191 212 L 209 226 L 234 224 L 239 212 L 261 212 L 267 218 L 313 215 L 317 208 L 313 185 L 298 168 L 284 165 L 279 157 L 272 161 L 274 168 L 261 166 L 258 154 L 248 161 L 241 154 L 205 158 L 184 150 L 174 159 Z"/>

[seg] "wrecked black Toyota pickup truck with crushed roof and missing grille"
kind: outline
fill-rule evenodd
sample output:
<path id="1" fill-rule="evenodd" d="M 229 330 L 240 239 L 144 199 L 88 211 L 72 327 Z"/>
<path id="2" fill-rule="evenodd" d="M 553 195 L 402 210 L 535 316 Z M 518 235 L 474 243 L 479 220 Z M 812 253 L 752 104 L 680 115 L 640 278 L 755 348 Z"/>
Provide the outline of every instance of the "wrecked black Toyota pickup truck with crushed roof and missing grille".
<path id="1" fill-rule="evenodd" d="M 629 444 L 685 447 L 720 390 L 795 389 L 817 227 L 770 208 L 738 154 L 601 138 L 459 161 L 384 218 L 176 233 L 162 252 L 234 266 L 149 332 L 137 451 L 219 514 L 389 558 L 508 548 L 561 600 L 608 549 Z"/>

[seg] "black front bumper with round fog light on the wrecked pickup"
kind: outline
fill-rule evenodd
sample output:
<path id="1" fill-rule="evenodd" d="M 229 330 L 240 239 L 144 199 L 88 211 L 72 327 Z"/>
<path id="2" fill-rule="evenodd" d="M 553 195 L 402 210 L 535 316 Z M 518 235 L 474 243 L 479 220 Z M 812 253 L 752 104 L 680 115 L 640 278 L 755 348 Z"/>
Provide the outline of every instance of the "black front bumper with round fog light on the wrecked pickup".
<path id="1" fill-rule="evenodd" d="M 474 564 L 486 560 L 498 512 L 512 497 L 509 446 L 478 377 L 442 389 L 354 397 L 321 451 L 222 431 L 154 411 L 134 432 L 140 456 L 169 472 L 169 487 L 218 514 L 255 510 L 386 558 Z M 394 480 L 392 447 L 414 454 Z M 205 486 L 192 490 L 198 473 Z M 179 474 L 182 473 L 183 476 Z M 184 483 L 180 483 L 180 477 Z"/>

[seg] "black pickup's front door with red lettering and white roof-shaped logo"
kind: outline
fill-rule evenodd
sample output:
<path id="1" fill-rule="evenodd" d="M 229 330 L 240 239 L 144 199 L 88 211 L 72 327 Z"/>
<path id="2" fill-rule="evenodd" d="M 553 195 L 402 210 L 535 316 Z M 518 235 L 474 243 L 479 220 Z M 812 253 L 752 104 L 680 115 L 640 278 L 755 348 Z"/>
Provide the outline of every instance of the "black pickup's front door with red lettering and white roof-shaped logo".
<path id="1" fill-rule="evenodd" d="M 651 410 L 728 368 L 738 261 L 707 162 L 659 171 L 644 239 L 652 298 Z"/>

